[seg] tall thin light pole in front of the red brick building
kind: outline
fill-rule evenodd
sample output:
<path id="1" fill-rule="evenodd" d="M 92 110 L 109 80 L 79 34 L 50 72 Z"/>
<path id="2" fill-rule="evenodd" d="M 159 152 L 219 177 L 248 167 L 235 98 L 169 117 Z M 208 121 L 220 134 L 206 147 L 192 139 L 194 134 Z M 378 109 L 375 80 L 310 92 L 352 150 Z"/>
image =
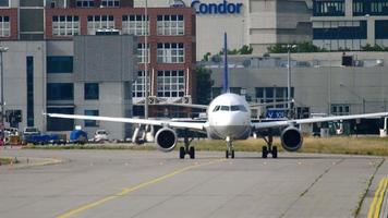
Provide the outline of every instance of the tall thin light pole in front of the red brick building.
<path id="1" fill-rule="evenodd" d="M 147 39 L 148 39 L 148 0 L 145 0 L 145 8 L 144 8 L 144 22 L 145 22 L 145 32 L 144 32 L 144 48 L 145 48 L 145 53 L 144 53 L 144 118 L 148 119 L 148 60 L 150 60 L 150 57 L 148 57 L 148 45 L 147 45 Z M 150 46 L 149 46 L 150 49 Z M 149 52 L 150 55 L 150 52 Z"/>

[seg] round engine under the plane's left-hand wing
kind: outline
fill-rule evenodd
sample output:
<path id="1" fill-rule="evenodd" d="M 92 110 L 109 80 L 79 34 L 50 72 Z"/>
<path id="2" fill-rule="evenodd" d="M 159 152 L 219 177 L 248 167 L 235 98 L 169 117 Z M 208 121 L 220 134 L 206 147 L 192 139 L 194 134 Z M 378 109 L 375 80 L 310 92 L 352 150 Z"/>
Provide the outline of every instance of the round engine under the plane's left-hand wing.
<path id="1" fill-rule="evenodd" d="M 177 146 L 178 136 L 175 131 L 169 128 L 160 129 L 155 135 L 158 149 L 165 153 L 171 152 Z"/>

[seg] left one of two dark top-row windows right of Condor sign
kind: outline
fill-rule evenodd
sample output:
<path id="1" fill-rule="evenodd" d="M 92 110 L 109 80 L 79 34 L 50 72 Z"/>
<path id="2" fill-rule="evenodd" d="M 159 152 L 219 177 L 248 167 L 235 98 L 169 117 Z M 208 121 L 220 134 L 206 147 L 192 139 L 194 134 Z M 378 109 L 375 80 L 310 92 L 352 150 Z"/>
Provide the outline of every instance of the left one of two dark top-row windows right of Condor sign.
<path id="1" fill-rule="evenodd" d="M 344 0 L 314 1 L 314 16 L 344 16 Z"/>

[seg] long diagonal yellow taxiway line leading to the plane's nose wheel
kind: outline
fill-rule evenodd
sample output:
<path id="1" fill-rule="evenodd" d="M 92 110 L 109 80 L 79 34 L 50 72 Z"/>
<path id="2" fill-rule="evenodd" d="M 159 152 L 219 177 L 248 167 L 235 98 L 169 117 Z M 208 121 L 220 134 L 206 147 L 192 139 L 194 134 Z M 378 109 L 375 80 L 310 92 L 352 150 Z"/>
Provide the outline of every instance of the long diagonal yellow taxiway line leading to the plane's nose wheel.
<path id="1" fill-rule="evenodd" d="M 195 168 L 199 168 L 199 167 L 205 167 L 205 166 L 209 166 L 209 165 L 213 165 L 213 164 L 217 164 L 217 162 L 221 162 L 221 161 L 225 161 L 226 159 L 216 159 L 216 160 L 213 160 L 213 161 L 209 161 L 209 162 L 205 162 L 205 164 L 198 164 L 198 162 L 195 162 L 194 165 L 192 166 L 189 166 L 189 167 L 185 167 L 185 168 L 182 168 L 180 170 L 175 170 L 173 172 L 170 172 L 168 174 L 165 174 L 165 175 L 161 175 L 161 177 L 158 177 L 156 179 L 153 179 L 153 180 L 149 180 L 149 181 L 146 181 L 146 182 L 142 182 L 135 186 L 129 186 L 129 187 L 124 187 L 121 192 L 119 193 L 116 193 L 116 194 L 112 194 L 112 195 L 109 195 L 109 196 L 106 196 L 101 199 L 98 199 L 98 201 L 95 201 L 95 202 L 92 202 L 92 203 L 88 203 L 88 204 L 85 204 L 83 206 L 80 206 L 75 209 L 71 209 L 64 214 L 61 214 L 59 216 L 57 216 L 57 218 L 69 218 L 69 217 L 72 217 L 74 215 L 77 215 L 82 211 L 85 211 L 87 209 L 92 209 L 94 207 L 97 207 L 104 203 L 107 203 L 109 201 L 112 201 L 112 199 L 116 199 L 116 198 L 119 198 L 119 197 L 122 197 L 122 196 L 125 196 L 128 194 L 130 194 L 131 192 L 134 192 L 136 190 L 140 190 L 140 189 L 143 189 L 143 187 L 146 187 L 146 186 L 149 186 L 151 184 L 155 184 L 155 183 L 158 183 L 158 182 L 161 182 L 163 180 L 167 180 L 167 179 L 170 179 L 170 178 L 173 178 L 178 174 L 181 174 L 183 172 L 186 172 L 189 170 L 192 170 L 192 169 L 195 169 Z"/>

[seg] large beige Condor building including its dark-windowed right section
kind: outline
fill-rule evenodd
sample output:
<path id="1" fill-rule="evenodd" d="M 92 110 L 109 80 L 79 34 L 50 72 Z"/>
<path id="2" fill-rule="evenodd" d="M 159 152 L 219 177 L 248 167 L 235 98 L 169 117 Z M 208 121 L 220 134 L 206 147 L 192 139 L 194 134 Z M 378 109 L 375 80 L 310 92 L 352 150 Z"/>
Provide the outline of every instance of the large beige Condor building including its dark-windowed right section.
<path id="1" fill-rule="evenodd" d="M 243 45 L 254 53 L 274 44 L 313 41 L 327 50 L 388 46 L 386 0 L 154 0 L 150 7 L 184 5 L 196 11 L 196 59 L 218 53 L 222 34 L 229 48 Z M 135 0 L 134 7 L 143 7 Z"/>

